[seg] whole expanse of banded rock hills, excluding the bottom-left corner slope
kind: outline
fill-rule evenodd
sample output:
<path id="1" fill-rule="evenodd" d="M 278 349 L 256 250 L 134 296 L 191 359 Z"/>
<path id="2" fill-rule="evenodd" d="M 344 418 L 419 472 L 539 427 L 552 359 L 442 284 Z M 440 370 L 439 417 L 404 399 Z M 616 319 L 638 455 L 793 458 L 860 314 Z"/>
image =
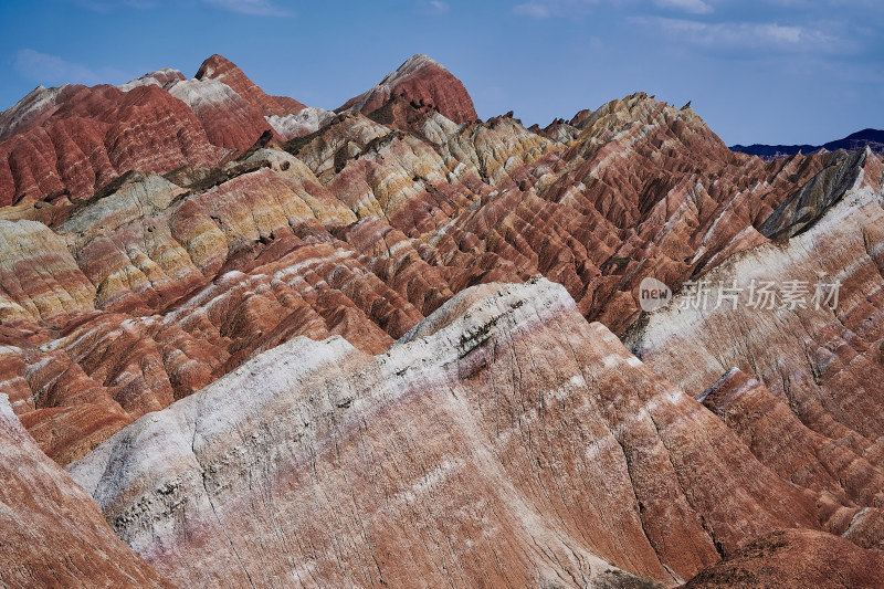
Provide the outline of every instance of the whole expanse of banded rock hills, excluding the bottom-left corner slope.
<path id="1" fill-rule="evenodd" d="M 338 111 L 215 55 L 0 114 L 0 390 L 162 575 L 705 587 L 878 554 L 878 156 L 764 161 L 642 93 L 482 122 L 421 55 Z M 714 304 L 753 280 L 807 304 Z"/>

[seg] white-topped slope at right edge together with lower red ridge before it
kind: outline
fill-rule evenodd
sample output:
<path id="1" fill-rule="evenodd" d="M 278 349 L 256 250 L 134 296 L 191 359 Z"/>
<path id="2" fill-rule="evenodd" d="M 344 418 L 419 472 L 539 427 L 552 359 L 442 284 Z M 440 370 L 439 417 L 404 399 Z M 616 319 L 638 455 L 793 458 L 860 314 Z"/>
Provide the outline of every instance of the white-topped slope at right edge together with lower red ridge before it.
<path id="1" fill-rule="evenodd" d="M 880 547 L 884 212 L 881 165 L 866 156 L 843 199 L 806 232 L 712 270 L 694 291 L 707 293 L 705 308 L 690 292 L 677 295 L 629 340 L 644 362 L 705 398 L 759 460 L 822 493 L 831 532 Z M 758 304 L 764 284 L 792 284 L 804 301 L 780 292 Z M 713 303 L 723 287 L 740 290 L 743 303 Z"/>

